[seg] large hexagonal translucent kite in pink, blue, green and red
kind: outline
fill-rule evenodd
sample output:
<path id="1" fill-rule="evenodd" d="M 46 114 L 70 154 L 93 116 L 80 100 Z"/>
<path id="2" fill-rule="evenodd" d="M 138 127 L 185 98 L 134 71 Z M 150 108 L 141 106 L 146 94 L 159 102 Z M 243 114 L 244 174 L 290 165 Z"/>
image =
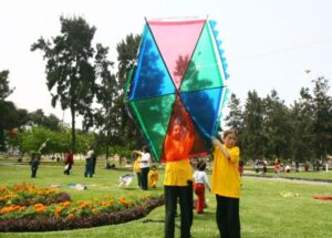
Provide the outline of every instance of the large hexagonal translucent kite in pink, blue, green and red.
<path id="1" fill-rule="evenodd" d="M 126 102 L 155 158 L 165 161 L 166 137 L 179 121 L 193 135 L 190 157 L 209 151 L 227 90 L 227 63 L 216 22 L 146 20 Z"/>

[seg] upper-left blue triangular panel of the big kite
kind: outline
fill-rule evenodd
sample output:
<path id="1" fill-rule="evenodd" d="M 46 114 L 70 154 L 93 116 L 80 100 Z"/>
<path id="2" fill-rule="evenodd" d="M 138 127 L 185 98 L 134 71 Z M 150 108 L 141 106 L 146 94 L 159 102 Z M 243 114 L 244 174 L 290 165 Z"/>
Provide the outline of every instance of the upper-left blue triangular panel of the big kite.
<path id="1" fill-rule="evenodd" d="M 144 28 L 138 58 L 129 100 L 175 93 L 174 83 L 147 25 Z"/>

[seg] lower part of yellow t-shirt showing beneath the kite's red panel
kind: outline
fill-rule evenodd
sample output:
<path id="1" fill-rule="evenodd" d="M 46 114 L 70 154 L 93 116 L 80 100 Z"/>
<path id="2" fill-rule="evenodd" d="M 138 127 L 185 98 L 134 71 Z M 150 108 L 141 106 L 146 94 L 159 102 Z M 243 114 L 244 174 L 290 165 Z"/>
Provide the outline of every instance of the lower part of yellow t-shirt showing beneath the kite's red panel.
<path id="1" fill-rule="evenodd" d="M 193 169 L 189 159 L 166 163 L 164 185 L 188 186 L 188 180 L 193 180 Z"/>

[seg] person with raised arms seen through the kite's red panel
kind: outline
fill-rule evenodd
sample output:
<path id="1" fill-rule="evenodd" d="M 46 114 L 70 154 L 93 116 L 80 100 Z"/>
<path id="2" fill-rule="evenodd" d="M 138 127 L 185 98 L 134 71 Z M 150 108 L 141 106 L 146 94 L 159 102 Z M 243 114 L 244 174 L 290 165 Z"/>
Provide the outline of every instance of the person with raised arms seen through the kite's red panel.
<path id="1" fill-rule="evenodd" d="M 191 236 L 194 197 L 189 153 L 194 145 L 194 126 L 186 113 L 184 118 L 175 118 L 170 123 L 164 144 L 165 238 L 174 237 L 177 200 L 180 206 L 180 237 Z"/>

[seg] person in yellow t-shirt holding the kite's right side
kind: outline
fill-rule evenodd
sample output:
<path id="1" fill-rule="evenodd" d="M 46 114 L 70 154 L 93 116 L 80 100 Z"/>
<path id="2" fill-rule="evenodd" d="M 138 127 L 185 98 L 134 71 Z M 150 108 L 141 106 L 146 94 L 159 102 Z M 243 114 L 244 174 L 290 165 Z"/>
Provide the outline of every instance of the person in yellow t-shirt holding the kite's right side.
<path id="1" fill-rule="evenodd" d="M 224 144 L 212 137 L 214 167 L 211 193 L 217 199 L 217 226 L 220 237 L 240 238 L 240 149 L 236 146 L 237 132 L 224 132 Z"/>

